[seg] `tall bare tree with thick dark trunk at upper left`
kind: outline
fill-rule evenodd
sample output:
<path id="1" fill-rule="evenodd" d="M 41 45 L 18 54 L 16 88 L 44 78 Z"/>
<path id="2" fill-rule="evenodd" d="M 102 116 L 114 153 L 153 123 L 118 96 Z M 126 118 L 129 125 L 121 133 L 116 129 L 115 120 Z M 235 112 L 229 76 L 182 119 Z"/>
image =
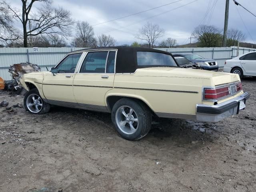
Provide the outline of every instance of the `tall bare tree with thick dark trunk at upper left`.
<path id="1" fill-rule="evenodd" d="M 53 8 L 51 0 L 21 0 L 22 10 L 12 8 L 6 2 L 1 2 L 8 7 L 17 21 L 22 23 L 24 47 L 28 47 L 28 36 L 38 36 L 39 34 L 58 34 L 69 36 L 70 27 L 73 20 L 70 12 L 63 8 Z M 31 9 L 35 2 L 43 2 L 43 6 L 37 8 L 36 13 Z M 30 25 L 28 30 L 28 25 Z"/>

